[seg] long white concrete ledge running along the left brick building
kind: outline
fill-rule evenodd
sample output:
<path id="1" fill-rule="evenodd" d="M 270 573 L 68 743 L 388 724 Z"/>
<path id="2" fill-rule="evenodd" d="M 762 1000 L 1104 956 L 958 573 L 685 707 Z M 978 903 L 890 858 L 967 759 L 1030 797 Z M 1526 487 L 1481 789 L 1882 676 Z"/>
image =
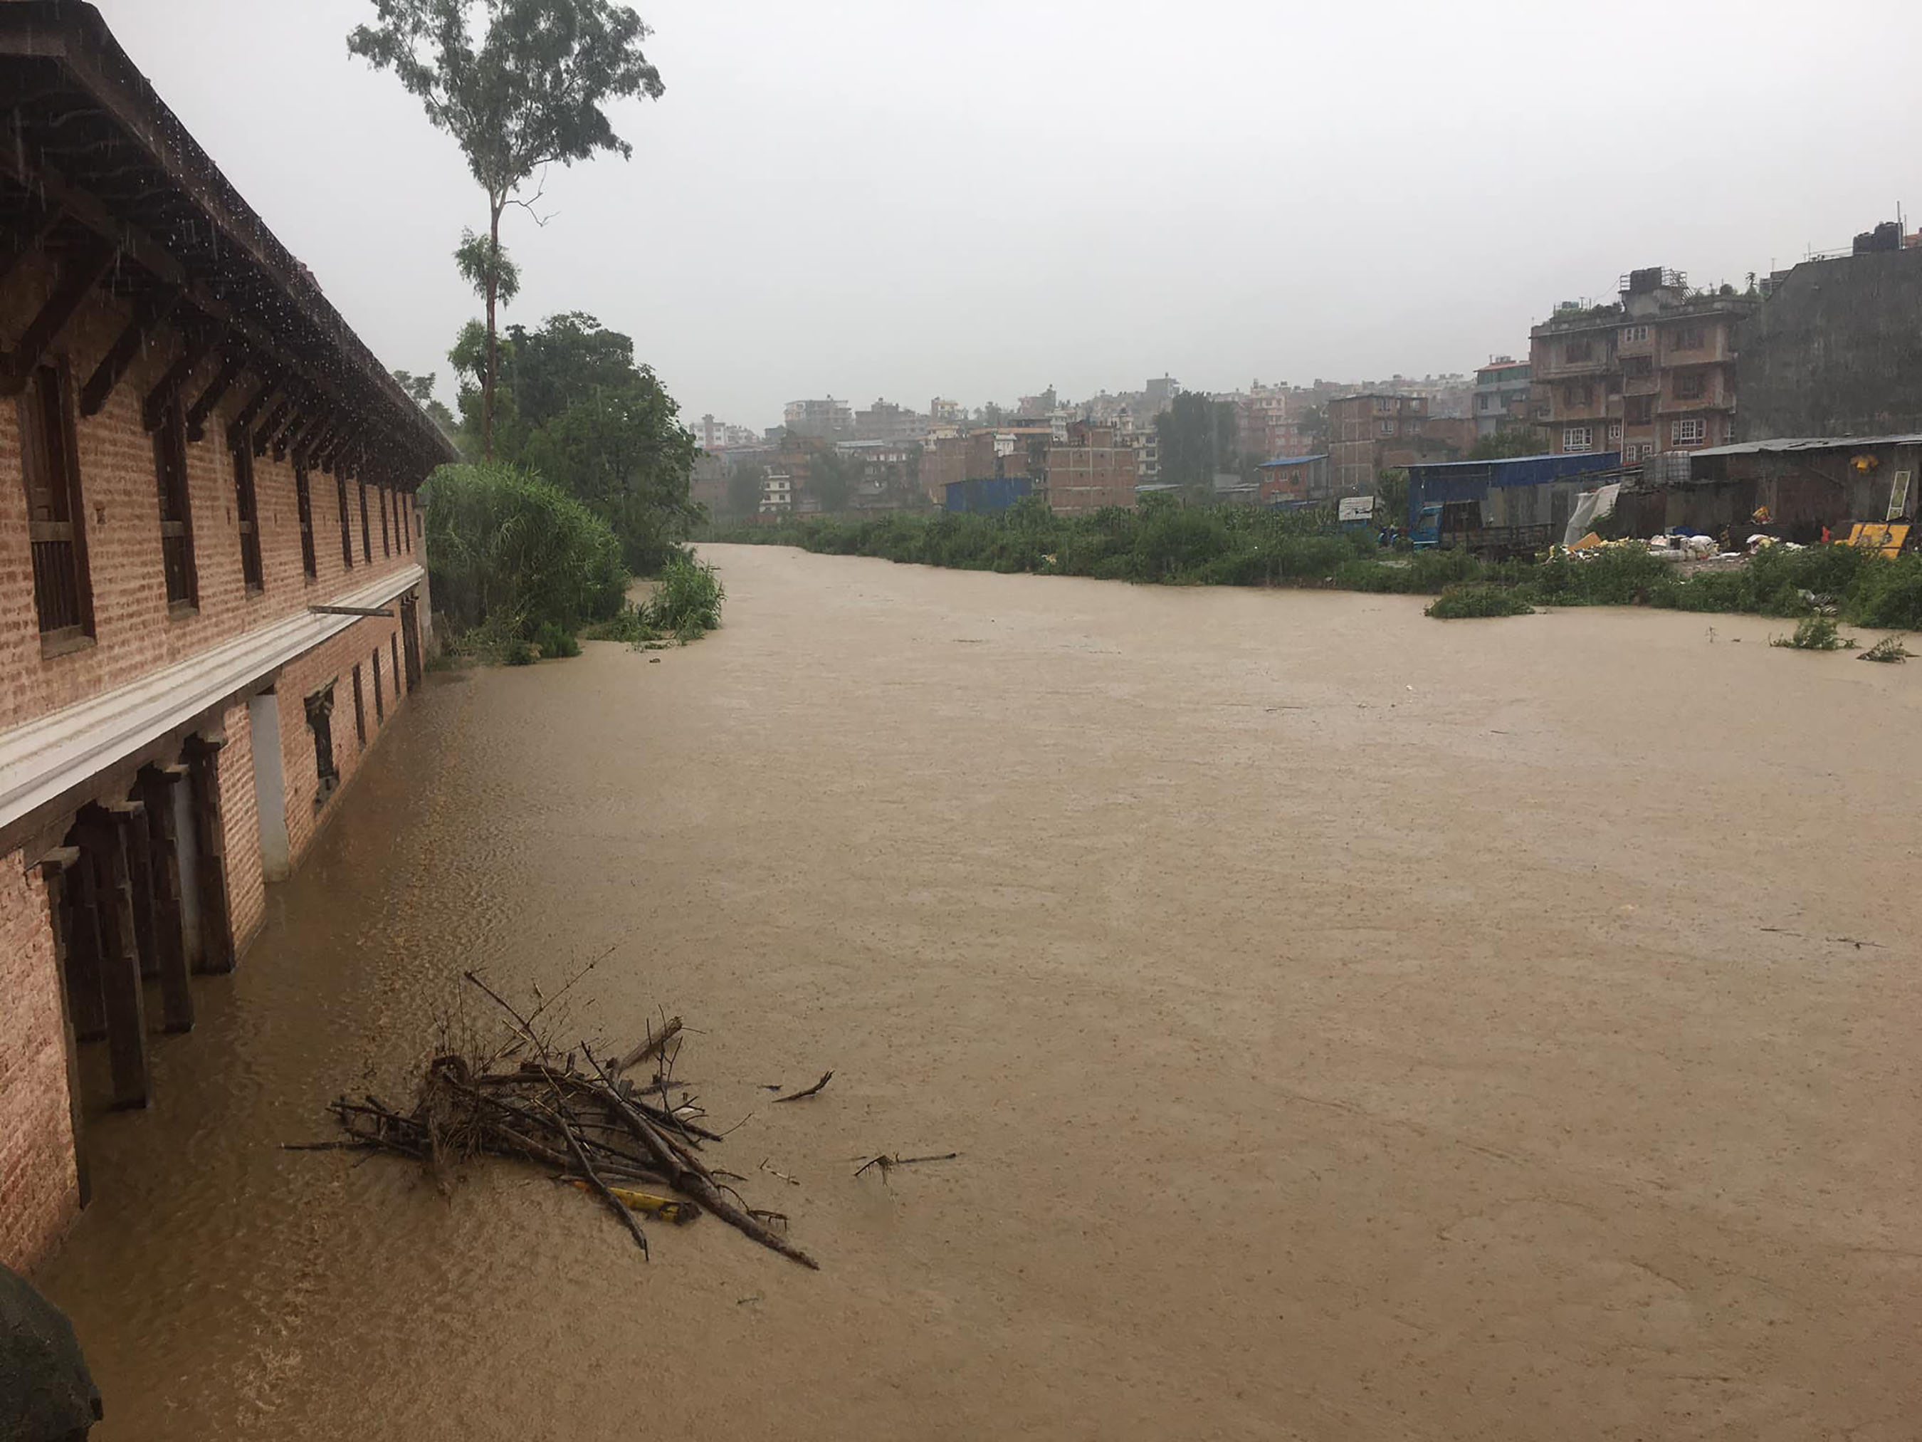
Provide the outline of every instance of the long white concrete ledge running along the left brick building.
<path id="1" fill-rule="evenodd" d="M 425 579 L 419 565 L 407 565 L 357 590 L 329 596 L 327 604 L 386 606 Z M 356 619 L 294 611 L 0 734 L 0 827 L 186 725 L 275 667 L 338 636 Z"/>

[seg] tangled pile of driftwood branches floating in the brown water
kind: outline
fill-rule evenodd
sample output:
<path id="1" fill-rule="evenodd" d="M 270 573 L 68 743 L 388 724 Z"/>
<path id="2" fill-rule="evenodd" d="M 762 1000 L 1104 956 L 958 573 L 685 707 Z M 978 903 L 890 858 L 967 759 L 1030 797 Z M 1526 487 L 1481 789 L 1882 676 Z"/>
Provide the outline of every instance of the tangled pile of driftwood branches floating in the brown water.
<path id="1" fill-rule="evenodd" d="M 700 1107 L 669 1098 L 682 1031 L 678 1017 L 663 1017 L 634 1048 L 604 1059 L 586 1042 L 561 1052 L 538 1032 L 534 1019 L 546 1004 L 523 1015 L 473 973 L 467 981 L 505 1015 L 507 1038 L 477 1054 L 446 1050 L 436 1056 L 407 1111 L 375 1096 L 338 1098 L 329 1109 L 348 1140 L 321 1146 L 407 1156 L 442 1184 L 469 1157 L 517 1157 L 596 1194 L 642 1252 L 648 1236 L 636 1211 L 675 1223 L 709 1211 L 761 1246 L 803 1267 L 819 1267 L 782 1236 L 788 1221 L 782 1213 L 750 1207 L 728 1184 L 744 1177 L 702 1159 L 703 1146 L 719 1142 L 721 1134 L 700 1125 Z M 636 1082 L 632 1073 L 646 1063 L 653 1063 L 653 1071 Z M 673 1196 L 636 1190 L 636 1184 Z"/>

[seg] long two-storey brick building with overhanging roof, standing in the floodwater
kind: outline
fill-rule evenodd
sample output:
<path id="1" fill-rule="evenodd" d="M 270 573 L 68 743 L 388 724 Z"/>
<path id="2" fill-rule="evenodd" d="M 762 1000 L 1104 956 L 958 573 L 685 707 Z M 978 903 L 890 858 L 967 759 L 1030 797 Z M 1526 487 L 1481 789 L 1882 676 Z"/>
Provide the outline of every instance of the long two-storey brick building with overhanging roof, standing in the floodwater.
<path id="1" fill-rule="evenodd" d="M 431 642 L 448 442 L 92 6 L 0 4 L 0 1261 L 85 1206 Z M 104 1044 L 83 1092 L 79 1046 Z M 88 1073 L 94 1073 L 90 1067 Z"/>

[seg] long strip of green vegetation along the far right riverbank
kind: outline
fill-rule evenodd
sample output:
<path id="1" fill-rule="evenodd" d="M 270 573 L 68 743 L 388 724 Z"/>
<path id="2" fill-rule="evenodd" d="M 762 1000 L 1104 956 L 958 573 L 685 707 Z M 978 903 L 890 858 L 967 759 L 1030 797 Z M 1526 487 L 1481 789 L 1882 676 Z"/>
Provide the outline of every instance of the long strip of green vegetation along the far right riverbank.
<path id="1" fill-rule="evenodd" d="M 809 517 L 736 525 L 707 540 L 801 546 L 828 556 L 965 571 L 1082 575 L 1146 584 L 1320 586 L 1440 596 L 1451 586 L 1507 592 L 1518 606 L 1661 606 L 1889 631 L 1922 629 L 1922 558 L 1889 559 L 1851 546 L 1770 546 L 1732 569 L 1678 575 L 1647 550 L 1611 548 L 1545 561 L 1482 561 L 1457 550 L 1390 552 L 1372 531 L 1342 533 L 1326 510 L 1182 506 L 1146 496 L 1138 510 L 1055 515 L 1024 498 L 996 515 Z"/>

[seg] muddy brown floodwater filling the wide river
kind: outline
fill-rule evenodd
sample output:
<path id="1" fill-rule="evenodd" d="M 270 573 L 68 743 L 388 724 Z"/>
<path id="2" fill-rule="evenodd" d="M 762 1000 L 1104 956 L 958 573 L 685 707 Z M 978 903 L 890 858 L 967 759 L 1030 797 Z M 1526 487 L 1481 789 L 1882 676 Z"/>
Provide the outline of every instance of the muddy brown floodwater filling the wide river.
<path id="1" fill-rule="evenodd" d="M 1922 1430 L 1922 667 L 715 556 L 659 665 L 434 677 L 92 1121 L 102 1438 Z M 819 1275 L 279 1150 L 609 948 Z"/>

